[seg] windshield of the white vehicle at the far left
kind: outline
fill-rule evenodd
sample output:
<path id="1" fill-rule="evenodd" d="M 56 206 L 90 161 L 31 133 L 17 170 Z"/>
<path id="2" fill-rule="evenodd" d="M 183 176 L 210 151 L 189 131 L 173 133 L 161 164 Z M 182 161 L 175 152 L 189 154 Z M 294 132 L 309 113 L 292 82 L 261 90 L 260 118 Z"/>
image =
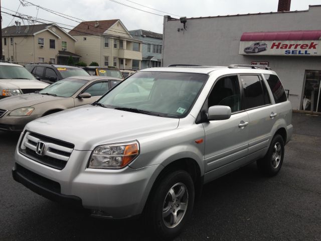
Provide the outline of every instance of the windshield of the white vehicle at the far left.
<path id="1" fill-rule="evenodd" d="M 25 67 L 0 65 L 1 79 L 36 79 Z"/>

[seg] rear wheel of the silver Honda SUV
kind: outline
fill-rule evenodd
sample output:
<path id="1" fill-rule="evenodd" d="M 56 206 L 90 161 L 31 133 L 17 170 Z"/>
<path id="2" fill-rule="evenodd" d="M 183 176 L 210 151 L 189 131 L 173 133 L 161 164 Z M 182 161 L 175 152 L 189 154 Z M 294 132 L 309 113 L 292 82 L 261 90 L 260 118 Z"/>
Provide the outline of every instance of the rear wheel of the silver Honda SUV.
<path id="1" fill-rule="evenodd" d="M 284 157 L 284 141 L 275 135 L 264 158 L 257 160 L 258 169 L 266 176 L 275 176 L 281 169 Z"/>

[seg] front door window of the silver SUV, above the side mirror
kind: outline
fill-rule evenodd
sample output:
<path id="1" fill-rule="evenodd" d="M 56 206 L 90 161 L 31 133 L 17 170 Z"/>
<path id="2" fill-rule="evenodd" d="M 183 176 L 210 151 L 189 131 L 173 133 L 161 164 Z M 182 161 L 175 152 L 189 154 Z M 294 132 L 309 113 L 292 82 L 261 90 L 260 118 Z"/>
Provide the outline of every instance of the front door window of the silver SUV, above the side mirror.
<path id="1" fill-rule="evenodd" d="M 208 107 L 230 106 L 232 113 L 241 110 L 240 87 L 237 75 L 226 76 L 215 82 L 208 97 Z"/>

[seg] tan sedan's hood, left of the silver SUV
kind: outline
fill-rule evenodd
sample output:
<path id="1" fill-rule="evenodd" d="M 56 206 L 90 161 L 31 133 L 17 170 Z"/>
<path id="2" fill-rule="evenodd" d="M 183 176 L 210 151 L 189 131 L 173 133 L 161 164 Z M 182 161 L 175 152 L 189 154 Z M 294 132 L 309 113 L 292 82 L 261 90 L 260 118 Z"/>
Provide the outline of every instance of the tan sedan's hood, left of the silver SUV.
<path id="1" fill-rule="evenodd" d="M 35 104 L 40 104 L 52 100 L 63 99 L 65 97 L 58 97 L 52 95 L 44 95 L 37 93 L 19 94 L 0 99 L 0 109 L 14 110 L 22 107 L 29 107 Z"/>

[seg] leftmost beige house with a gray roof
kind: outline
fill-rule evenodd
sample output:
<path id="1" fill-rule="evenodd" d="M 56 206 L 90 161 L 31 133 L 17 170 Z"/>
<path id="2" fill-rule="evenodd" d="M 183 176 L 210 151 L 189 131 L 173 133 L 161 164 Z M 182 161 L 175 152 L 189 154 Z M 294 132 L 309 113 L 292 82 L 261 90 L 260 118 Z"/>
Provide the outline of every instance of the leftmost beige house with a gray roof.
<path id="1" fill-rule="evenodd" d="M 2 29 L 2 59 L 19 64 L 44 62 L 66 64 L 75 54 L 76 39 L 56 24 L 35 24 Z"/>

